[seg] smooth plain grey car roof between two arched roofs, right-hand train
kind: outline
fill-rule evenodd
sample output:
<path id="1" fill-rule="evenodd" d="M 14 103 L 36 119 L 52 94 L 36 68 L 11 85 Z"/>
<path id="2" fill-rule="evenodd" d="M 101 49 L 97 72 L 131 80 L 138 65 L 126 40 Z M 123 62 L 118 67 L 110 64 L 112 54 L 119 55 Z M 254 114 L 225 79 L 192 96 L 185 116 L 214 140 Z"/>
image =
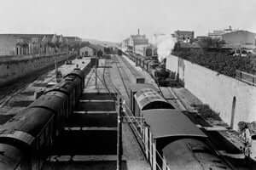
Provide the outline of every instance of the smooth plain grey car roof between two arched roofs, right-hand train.
<path id="1" fill-rule="evenodd" d="M 207 135 L 195 126 L 181 111 L 154 109 L 142 111 L 145 122 L 149 125 L 154 139 L 166 137 L 203 137 Z"/>

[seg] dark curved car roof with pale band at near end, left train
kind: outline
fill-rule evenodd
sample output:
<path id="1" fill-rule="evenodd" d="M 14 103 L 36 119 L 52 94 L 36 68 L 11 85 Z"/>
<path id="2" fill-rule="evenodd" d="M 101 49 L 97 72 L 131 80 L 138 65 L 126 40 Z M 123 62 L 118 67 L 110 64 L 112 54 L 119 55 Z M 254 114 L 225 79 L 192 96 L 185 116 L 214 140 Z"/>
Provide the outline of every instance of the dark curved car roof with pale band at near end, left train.
<path id="1" fill-rule="evenodd" d="M 30 145 L 53 114 L 44 108 L 26 108 L 0 127 L 0 137 L 18 139 Z"/>

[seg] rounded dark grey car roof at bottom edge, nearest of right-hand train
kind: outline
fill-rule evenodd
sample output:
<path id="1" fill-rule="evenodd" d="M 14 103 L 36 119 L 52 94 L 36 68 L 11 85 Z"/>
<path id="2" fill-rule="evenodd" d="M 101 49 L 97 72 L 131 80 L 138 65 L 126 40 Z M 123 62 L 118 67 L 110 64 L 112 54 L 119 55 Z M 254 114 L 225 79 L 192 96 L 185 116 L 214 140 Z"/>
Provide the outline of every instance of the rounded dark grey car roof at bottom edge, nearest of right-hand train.
<path id="1" fill-rule="evenodd" d="M 178 139 L 167 144 L 162 151 L 170 169 L 230 170 L 230 167 L 201 140 Z"/>

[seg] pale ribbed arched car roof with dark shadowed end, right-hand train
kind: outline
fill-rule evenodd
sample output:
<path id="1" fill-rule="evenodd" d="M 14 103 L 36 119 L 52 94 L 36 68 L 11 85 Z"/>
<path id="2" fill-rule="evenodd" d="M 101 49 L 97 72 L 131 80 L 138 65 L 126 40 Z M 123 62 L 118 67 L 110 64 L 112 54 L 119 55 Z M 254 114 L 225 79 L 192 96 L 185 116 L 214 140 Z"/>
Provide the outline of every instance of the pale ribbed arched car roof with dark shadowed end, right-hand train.
<path id="1" fill-rule="evenodd" d="M 174 109 L 174 107 L 153 88 L 140 89 L 134 97 L 142 111 L 147 109 Z"/>

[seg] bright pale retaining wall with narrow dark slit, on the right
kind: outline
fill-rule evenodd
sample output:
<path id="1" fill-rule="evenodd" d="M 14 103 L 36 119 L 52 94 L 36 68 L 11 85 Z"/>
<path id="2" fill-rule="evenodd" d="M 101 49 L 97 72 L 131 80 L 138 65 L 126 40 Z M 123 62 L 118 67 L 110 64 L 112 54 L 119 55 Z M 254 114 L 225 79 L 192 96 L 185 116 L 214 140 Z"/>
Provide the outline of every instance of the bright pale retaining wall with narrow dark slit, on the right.
<path id="1" fill-rule="evenodd" d="M 238 122 L 256 121 L 256 87 L 173 55 L 167 57 L 166 68 L 178 73 L 184 87 L 219 112 L 224 122 L 231 125 L 233 115 L 235 129 Z"/>

